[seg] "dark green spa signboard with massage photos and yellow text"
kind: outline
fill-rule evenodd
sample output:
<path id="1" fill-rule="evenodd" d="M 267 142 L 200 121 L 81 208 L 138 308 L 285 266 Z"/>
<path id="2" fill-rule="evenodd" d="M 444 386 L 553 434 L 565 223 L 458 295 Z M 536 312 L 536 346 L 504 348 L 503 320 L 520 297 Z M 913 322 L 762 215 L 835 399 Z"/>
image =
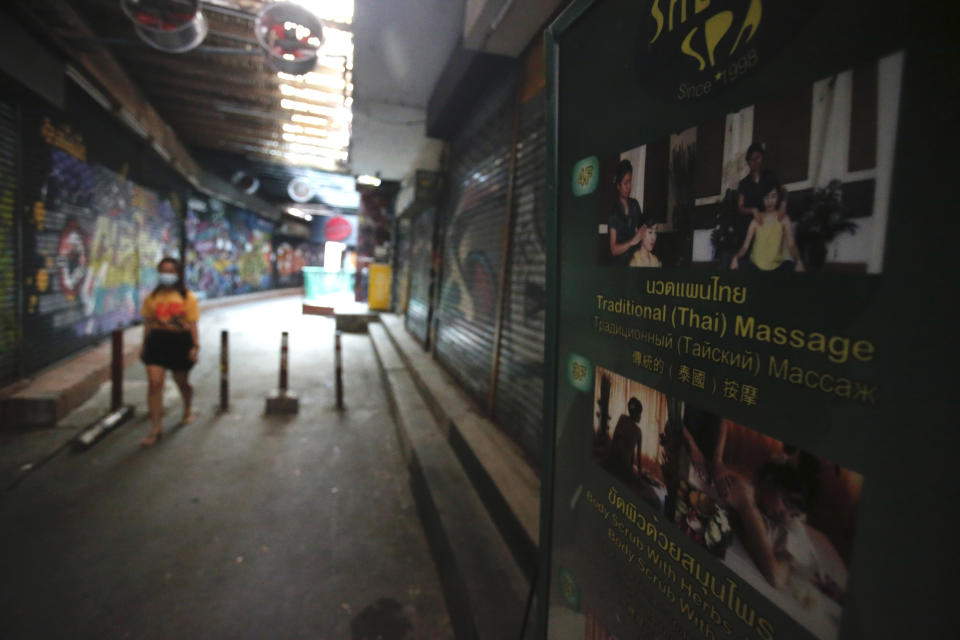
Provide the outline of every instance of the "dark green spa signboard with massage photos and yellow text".
<path id="1" fill-rule="evenodd" d="M 955 22 L 886 4 L 548 31 L 538 637 L 955 637 Z"/>

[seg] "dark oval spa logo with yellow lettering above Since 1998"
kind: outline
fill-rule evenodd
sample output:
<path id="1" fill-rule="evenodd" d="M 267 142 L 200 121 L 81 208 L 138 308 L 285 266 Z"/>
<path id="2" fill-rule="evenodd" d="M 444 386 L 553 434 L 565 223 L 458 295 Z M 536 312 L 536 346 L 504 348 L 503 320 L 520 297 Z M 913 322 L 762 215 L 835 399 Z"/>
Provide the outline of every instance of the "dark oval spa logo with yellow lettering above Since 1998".
<path id="1" fill-rule="evenodd" d="M 662 97 L 715 95 L 792 40 L 822 0 L 653 0 L 639 43 L 641 83 Z"/>

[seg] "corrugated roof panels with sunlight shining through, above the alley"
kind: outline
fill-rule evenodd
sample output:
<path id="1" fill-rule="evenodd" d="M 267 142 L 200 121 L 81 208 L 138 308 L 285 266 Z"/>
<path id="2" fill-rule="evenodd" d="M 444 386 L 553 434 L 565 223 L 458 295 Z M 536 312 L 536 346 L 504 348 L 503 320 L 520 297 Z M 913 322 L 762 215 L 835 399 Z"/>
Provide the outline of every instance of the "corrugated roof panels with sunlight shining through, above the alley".
<path id="1" fill-rule="evenodd" d="M 309 5 L 309 0 L 300 2 Z M 30 12 L 32 3 L 20 4 Z M 325 0 L 310 7 L 324 19 L 326 42 L 308 76 L 278 74 L 267 63 L 253 29 L 266 4 L 272 3 L 202 3 L 209 32 L 186 53 L 167 53 L 143 42 L 119 0 L 73 0 L 72 8 L 97 37 L 64 33 L 62 26 L 57 35 L 78 50 L 108 49 L 195 152 L 288 167 L 291 177 L 306 167 L 349 172 L 353 2 Z M 58 29 L 49 17 L 45 22 Z"/>

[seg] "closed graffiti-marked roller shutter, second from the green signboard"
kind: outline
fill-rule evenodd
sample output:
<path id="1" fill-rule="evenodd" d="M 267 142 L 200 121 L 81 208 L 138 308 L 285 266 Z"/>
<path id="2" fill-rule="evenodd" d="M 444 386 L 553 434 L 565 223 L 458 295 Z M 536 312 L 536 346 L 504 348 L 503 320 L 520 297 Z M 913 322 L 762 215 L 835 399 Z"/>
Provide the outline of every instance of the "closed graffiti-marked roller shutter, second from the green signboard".
<path id="1" fill-rule="evenodd" d="M 511 153 L 508 99 L 484 124 L 454 143 L 447 203 L 435 353 L 486 403 L 492 369 Z"/>

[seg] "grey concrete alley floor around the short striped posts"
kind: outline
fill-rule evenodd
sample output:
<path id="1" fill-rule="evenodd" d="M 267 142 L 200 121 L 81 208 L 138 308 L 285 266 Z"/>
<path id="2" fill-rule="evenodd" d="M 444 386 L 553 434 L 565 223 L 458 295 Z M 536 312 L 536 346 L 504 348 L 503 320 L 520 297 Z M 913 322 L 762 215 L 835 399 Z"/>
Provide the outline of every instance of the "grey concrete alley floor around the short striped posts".
<path id="1" fill-rule="evenodd" d="M 137 415 L 0 494 L 0 638 L 452 638 L 369 338 L 344 335 L 347 411 L 334 408 L 333 320 L 300 298 L 201 318 L 196 422 Z M 231 411 L 218 415 L 220 330 Z M 263 415 L 290 332 L 291 417 Z M 68 418 L 105 412 L 106 387 Z"/>

